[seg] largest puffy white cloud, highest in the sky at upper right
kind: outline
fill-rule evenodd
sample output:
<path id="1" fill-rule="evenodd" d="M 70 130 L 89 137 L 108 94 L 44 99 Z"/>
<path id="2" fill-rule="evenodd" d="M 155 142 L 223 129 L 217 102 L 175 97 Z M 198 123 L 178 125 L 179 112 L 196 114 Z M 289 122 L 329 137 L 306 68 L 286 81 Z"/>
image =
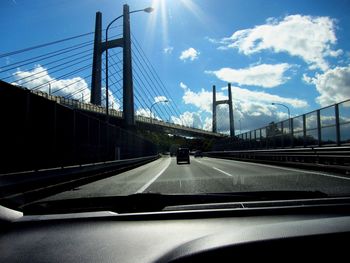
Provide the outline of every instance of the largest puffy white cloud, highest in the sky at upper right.
<path id="1" fill-rule="evenodd" d="M 245 55 L 272 50 L 302 58 L 311 69 L 327 70 L 326 57 L 336 57 L 342 50 L 336 44 L 335 20 L 329 17 L 290 15 L 283 20 L 270 18 L 264 25 L 236 31 L 221 40 L 220 49 L 237 48 Z"/>

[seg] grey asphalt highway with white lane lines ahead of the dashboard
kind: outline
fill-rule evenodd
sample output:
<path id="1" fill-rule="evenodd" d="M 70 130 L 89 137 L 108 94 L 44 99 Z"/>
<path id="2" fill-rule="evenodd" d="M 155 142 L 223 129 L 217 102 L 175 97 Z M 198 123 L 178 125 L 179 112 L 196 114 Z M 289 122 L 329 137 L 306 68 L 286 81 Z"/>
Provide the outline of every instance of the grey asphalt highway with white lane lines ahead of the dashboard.
<path id="1" fill-rule="evenodd" d="M 134 193 L 215 193 L 306 190 L 350 193 L 350 177 L 326 172 L 214 158 L 176 164 L 163 157 L 133 170 L 89 183 L 48 199 L 128 195 Z"/>

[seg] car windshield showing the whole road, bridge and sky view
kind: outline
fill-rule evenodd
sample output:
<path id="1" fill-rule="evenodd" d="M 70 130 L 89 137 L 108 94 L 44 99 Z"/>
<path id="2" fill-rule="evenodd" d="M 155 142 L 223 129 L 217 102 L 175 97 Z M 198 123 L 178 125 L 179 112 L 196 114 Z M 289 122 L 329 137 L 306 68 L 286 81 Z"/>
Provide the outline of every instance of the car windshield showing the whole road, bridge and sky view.
<path id="1" fill-rule="evenodd" d="M 0 5 L 1 205 L 350 195 L 347 1 Z"/>

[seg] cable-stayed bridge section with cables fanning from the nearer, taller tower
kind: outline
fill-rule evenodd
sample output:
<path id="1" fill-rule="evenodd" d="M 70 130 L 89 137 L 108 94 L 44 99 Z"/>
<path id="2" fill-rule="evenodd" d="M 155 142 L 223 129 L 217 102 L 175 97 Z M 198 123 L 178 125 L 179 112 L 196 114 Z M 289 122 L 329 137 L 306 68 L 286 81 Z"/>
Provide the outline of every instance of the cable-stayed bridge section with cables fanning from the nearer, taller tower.
<path id="1" fill-rule="evenodd" d="M 130 13 L 125 5 L 123 23 L 110 28 L 109 40 L 97 12 L 94 32 L 0 55 L 6 60 L 1 80 L 87 113 L 104 114 L 107 121 L 122 119 L 117 123 L 126 129 L 222 137 L 181 117 L 176 100 L 130 32 Z"/>

